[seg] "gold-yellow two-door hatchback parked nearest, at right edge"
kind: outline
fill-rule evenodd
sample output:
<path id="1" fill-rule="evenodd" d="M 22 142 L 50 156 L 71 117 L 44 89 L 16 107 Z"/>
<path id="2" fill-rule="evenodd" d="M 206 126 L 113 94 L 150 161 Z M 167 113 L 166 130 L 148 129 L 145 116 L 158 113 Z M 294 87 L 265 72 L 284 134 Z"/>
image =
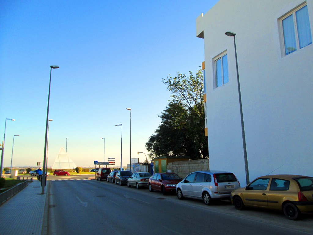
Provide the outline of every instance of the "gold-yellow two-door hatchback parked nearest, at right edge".
<path id="1" fill-rule="evenodd" d="M 301 212 L 313 212 L 313 177 L 303 175 L 266 175 L 231 193 L 237 210 L 261 207 L 282 210 L 290 220 Z"/>

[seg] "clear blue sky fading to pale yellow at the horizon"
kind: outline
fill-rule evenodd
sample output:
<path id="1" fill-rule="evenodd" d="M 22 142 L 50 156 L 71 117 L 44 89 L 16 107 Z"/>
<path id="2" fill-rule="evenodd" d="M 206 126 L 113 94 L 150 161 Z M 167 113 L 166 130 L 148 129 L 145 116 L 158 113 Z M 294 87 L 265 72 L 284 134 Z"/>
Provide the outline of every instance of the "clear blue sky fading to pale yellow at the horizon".
<path id="1" fill-rule="evenodd" d="M 171 93 L 162 78 L 199 69 L 196 18 L 207 1 L 1 1 L 0 141 L 3 166 L 43 162 L 50 65 L 48 166 L 61 147 L 77 166 L 143 162 Z"/>

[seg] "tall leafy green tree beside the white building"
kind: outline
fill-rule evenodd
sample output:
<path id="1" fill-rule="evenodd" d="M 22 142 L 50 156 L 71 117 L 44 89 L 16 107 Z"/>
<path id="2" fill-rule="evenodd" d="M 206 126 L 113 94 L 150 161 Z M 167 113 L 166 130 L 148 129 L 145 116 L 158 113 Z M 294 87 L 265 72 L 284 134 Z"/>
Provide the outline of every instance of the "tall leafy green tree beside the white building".
<path id="1" fill-rule="evenodd" d="M 146 148 L 150 159 L 159 156 L 208 158 L 208 139 L 204 135 L 204 103 L 202 70 L 196 76 L 189 72 L 175 77 L 169 75 L 167 89 L 172 92 L 169 106 L 158 115 L 161 125 L 151 135 Z"/>

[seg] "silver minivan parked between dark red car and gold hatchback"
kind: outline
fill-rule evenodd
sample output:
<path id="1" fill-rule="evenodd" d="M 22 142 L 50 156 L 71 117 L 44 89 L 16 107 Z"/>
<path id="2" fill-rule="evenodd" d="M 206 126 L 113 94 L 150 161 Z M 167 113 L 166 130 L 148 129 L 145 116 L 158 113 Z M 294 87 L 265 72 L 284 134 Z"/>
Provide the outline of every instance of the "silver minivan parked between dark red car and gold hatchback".
<path id="1" fill-rule="evenodd" d="M 231 192 L 239 188 L 239 181 L 233 173 L 204 170 L 187 175 L 176 185 L 176 194 L 178 199 L 195 198 L 211 205 L 214 200 L 230 199 Z"/>

